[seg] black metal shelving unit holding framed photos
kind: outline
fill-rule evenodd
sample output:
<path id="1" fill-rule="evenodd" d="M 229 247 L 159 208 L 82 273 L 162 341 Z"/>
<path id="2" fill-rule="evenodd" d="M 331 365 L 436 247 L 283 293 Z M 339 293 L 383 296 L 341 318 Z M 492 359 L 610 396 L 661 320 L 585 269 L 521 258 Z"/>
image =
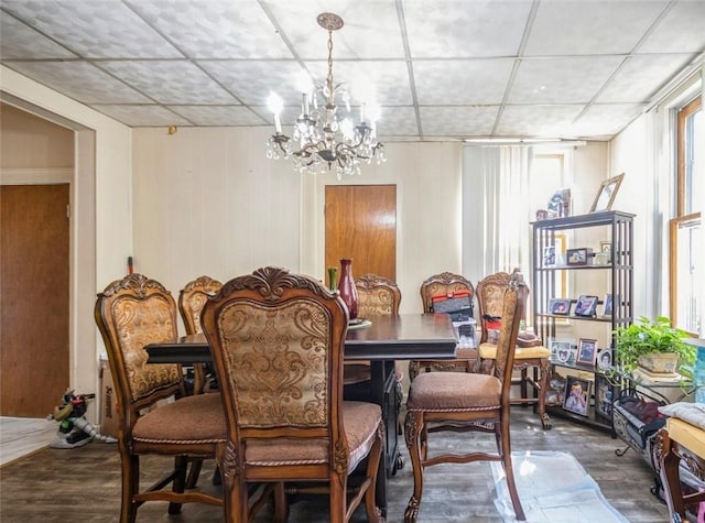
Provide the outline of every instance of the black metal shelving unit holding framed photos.
<path id="1" fill-rule="evenodd" d="M 588 215 L 545 219 L 532 222 L 533 266 L 532 266 L 532 307 L 536 334 L 547 347 L 554 341 L 577 344 L 578 338 L 596 339 L 599 348 L 612 348 L 616 327 L 633 322 L 633 217 L 634 215 L 617 210 L 590 213 Z M 600 246 L 609 242 L 611 253 L 604 263 L 595 263 Z M 585 249 L 584 264 L 568 264 L 563 249 Z M 549 255 L 553 249 L 553 257 Z M 593 249 L 593 255 L 587 249 Z M 578 262 L 582 263 L 582 262 Z M 612 296 L 610 314 L 604 310 L 607 294 Z M 574 314 L 579 295 L 598 296 L 598 309 L 594 316 Z M 553 314 L 552 299 L 571 302 L 570 314 Z M 586 336 L 577 333 L 588 333 Z M 611 404 L 605 404 L 605 377 L 596 364 L 575 364 L 552 358 L 552 374 L 556 371 L 564 375 L 576 375 L 592 381 L 592 394 L 586 415 L 579 415 L 563 408 L 562 403 L 549 406 L 552 414 L 608 429 L 614 434 Z M 585 378 L 587 377 L 587 378 Z M 552 380 L 553 381 L 553 380 Z M 603 389 L 598 394 L 598 386 Z M 609 389 L 616 397 L 617 389 Z M 608 397 L 609 400 L 609 397 Z"/>

